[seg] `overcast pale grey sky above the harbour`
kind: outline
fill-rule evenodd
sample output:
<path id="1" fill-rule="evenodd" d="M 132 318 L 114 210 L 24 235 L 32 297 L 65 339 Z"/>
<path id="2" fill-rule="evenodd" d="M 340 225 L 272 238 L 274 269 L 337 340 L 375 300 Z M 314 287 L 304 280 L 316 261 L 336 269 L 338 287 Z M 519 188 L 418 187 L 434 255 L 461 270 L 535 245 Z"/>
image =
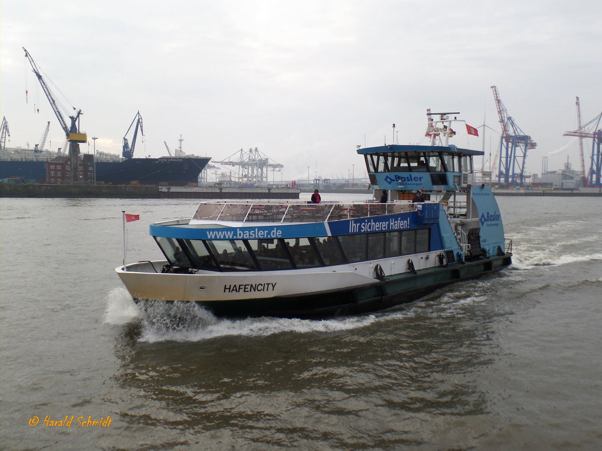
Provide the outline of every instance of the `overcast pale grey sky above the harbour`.
<path id="1" fill-rule="evenodd" d="M 135 156 L 166 155 L 163 141 L 173 149 L 182 134 L 187 153 L 217 160 L 258 147 L 285 180 L 307 166 L 347 177 L 353 164 L 361 177 L 356 146 L 391 143 L 393 123 L 396 142 L 420 143 L 427 108 L 485 118 L 495 154 L 497 85 L 538 143 L 527 171 L 544 156 L 549 169 L 579 168 L 577 138 L 562 133 L 577 127 L 576 96 L 583 123 L 602 111 L 601 25 L 598 0 L 4 0 L 1 115 L 12 147 L 39 143 L 48 121 L 46 147 L 63 145 L 25 47 L 57 99 L 82 109 L 97 150 L 120 153 L 140 110 Z M 453 144 L 480 150 L 482 138 L 461 130 Z"/>

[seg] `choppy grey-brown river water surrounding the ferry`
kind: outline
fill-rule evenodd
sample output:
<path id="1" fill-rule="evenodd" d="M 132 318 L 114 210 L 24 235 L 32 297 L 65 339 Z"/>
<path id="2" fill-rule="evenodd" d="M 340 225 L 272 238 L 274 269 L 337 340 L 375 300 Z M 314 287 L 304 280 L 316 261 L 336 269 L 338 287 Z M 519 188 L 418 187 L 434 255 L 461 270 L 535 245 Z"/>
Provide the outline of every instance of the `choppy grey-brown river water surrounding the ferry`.
<path id="1" fill-rule="evenodd" d="M 601 200 L 498 203 L 498 274 L 358 318 L 173 324 L 113 272 L 121 210 L 131 262 L 196 201 L 2 199 L 1 447 L 600 449 Z"/>

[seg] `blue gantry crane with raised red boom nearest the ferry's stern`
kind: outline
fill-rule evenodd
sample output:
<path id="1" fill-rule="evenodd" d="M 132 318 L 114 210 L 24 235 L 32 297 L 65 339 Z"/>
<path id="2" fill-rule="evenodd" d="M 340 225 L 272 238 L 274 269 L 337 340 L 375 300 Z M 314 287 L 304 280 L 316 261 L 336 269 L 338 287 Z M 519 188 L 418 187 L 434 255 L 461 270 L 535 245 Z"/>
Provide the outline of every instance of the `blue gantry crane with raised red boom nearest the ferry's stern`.
<path id="1" fill-rule="evenodd" d="M 535 149 L 537 143 L 524 133 L 518 124 L 515 123 L 514 119 L 507 114 L 506 107 L 501 103 L 497 87 L 492 86 L 491 89 L 493 90 L 495 106 L 497 106 L 497 114 L 501 125 L 500 168 L 498 170 L 497 181 L 505 183 L 515 183 L 518 181 L 520 185 L 523 185 L 527 150 Z M 495 162 L 492 172 L 495 172 Z"/>

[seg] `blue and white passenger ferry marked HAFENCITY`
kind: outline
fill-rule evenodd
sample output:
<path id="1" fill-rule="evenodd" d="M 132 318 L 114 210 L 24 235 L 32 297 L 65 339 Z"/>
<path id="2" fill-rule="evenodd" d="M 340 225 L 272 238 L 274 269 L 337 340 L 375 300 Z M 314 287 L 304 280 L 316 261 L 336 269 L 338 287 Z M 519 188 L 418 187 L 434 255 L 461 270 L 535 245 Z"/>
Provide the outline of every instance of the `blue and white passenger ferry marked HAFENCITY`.
<path id="1" fill-rule="evenodd" d="M 427 113 L 430 146 L 357 150 L 377 186 L 371 200 L 203 201 L 189 219 L 151 225 L 165 259 L 116 272 L 136 302 L 196 302 L 234 318 L 332 318 L 506 268 L 512 242 L 500 209 L 489 186 L 474 183 L 473 157 L 483 152 L 448 144 L 463 122 L 452 114 Z"/>

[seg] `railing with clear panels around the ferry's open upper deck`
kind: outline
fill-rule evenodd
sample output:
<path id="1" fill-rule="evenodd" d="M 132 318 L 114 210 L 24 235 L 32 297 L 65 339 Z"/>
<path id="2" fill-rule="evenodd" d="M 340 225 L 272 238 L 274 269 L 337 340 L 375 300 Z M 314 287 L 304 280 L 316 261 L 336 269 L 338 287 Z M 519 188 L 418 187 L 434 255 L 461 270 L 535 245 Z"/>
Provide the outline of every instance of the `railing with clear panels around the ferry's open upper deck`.
<path id="1" fill-rule="evenodd" d="M 278 201 L 209 201 L 199 204 L 191 223 L 196 219 L 237 222 L 325 222 L 415 210 L 416 204 L 409 201 L 323 204 L 278 203 Z"/>

